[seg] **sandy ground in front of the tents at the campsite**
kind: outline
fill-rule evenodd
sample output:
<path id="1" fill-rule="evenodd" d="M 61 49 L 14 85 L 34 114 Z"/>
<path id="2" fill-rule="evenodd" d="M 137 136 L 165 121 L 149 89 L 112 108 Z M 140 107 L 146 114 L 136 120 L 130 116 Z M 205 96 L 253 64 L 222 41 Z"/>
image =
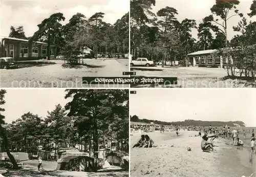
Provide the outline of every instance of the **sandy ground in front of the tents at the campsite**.
<path id="1" fill-rule="evenodd" d="M 24 161 L 25 166 L 20 170 L 0 170 L 4 176 L 9 177 L 95 177 L 95 176 L 129 176 L 129 171 L 123 171 L 120 167 L 111 166 L 102 169 L 99 172 L 83 172 L 83 171 L 62 171 L 55 170 L 57 162 L 43 162 L 44 171 L 37 170 L 37 160 Z"/>

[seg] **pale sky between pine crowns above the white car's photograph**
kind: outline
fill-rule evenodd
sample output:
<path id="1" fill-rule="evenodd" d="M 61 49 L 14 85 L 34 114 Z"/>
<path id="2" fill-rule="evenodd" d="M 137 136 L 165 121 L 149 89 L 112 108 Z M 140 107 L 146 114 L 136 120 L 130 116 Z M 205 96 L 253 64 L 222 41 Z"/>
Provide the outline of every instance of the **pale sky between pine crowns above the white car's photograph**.
<path id="1" fill-rule="evenodd" d="M 240 0 L 240 4 L 237 6 L 240 13 L 244 14 L 247 21 L 256 21 L 256 16 L 250 18 L 247 13 L 250 11 L 250 6 L 253 0 Z M 157 13 L 158 10 L 165 8 L 166 6 L 173 7 L 178 11 L 176 15 L 179 21 L 185 18 L 195 19 L 197 26 L 202 22 L 203 18 L 210 15 L 210 8 L 215 4 L 214 0 L 156 0 L 156 6 L 153 6 L 153 12 Z M 216 19 L 216 18 L 215 18 Z M 230 40 L 237 32 L 234 32 L 232 27 L 237 26 L 241 18 L 239 16 L 234 16 L 227 22 L 227 34 L 228 40 Z M 193 29 L 192 35 L 197 38 L 197 29 Z"/>

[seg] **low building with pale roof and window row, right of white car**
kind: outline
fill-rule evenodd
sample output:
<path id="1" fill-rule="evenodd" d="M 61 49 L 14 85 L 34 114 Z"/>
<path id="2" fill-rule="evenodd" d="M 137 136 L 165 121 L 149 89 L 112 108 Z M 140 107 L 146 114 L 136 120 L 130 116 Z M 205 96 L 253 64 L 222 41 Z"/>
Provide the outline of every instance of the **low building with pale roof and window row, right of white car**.
<path id="1" fill-rule="evenodd" d="M 231 56 L 221 56 L 219 50 L 216 49 L 193 52 L 187 57 L 193 67 L 223 68 L 228 62 L 233 62 Z"/>

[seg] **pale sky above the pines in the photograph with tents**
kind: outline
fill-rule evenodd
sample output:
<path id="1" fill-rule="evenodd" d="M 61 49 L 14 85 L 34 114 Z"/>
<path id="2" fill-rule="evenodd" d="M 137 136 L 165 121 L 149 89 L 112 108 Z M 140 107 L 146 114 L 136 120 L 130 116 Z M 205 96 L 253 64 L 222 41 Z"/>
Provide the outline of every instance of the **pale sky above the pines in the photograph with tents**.
<path id="1" fill-rule="evenodd" d="M 2 105 L 5 112 L 1 114 L 5 116 L 5 122 L 11 123 L 25 113 L 31 112 L 39 117 L 45 118 L 55 109 L 55 105 L 60 104 L 62 107 L 66 105 L 70 98 L 65 99 L 65 89 L 6 89 L 4 100 L 6 103 Z"/>

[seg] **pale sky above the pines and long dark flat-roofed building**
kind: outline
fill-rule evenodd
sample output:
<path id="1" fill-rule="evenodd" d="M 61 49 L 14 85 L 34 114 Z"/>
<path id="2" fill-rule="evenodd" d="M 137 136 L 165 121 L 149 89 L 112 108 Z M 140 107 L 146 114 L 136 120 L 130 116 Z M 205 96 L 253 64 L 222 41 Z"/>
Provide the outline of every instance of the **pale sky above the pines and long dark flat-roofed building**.
<path id="1" fill-rule="evenodd" d="M 0 36 L 9 36 L 11 26 L 23 25 L 25 35 L 30 37 L 38 30 L 37 25 L 42 20 L 57 12 L 65 16 L 64 24 L 78 12 L 88 18 L 96 12 L 103 12 L 103 20 L 114 24 L 117 19 L 129 12 L 129 3 L 129 0 L 1 0 Z"/>

